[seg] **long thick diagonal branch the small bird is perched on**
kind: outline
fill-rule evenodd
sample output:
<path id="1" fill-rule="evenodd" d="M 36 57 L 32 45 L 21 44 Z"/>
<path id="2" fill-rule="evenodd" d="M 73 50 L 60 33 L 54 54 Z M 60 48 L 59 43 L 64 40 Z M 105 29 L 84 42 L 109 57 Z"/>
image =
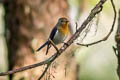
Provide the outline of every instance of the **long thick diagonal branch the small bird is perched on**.
<path id="1" fill-rule="evenodd" d="M 77 29 L 77 31 L 75 32 L 75 34 L 73 34 L 73 36 L 67 41 L 67 45 L 63 45 L 59 51 L 57 51 L 54 55 L 52 55 L 51 57 L 49 57 L 48 59 L 37 63 L 37 64 L 33 64 L 33 65 L 29 65 L 26 67 L 22 67 L 19 69 L 15 69 L 15 70 L 11 70 L 8 72 L 1 72 L 0 76 L 5 76 L 5 75 L 9 75 L 9 74 L 13 74 L 13 73 L 17 73 L 17 72 L 21 72 L 21 71 L 25 71 L 28 69 L 32 69 L 38 66 L 42 66 L 45 64 L 51 64 L 57 57 L 59 57 L 62 52 L 64 52 L 73 42 L 75 39 L 77 39 L 79 37 L 79 34 L 83 31 L 83 29 L 86 28 L 87 24 L 96 16 L 96 14 L 98 14 L 99 12 L 101 12 L 101 6 L 106 2 L 107 0 L 100 0 L 99 3 L 91 10 L 90 15 L 87 17 L 87 19 L 83 22 L 83 24 L 81 25 L 81 27 L 79 29 Z"/>

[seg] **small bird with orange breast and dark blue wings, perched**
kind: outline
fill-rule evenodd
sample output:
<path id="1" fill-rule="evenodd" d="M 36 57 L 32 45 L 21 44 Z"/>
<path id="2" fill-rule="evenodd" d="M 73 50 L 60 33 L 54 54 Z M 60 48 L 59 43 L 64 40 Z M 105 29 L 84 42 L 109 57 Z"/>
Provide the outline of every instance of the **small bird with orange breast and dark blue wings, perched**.
<path id="1" fill-rule="evenodd" d="M 65 17 L 59 18 L 57 24 L 52 29 L 51 34 L 49 36 L 49 39 L 51 39 L 51 41 L 55 45 L 63 43 L 64 40 L 66 39 L 69 31 L 68 25 L 69 25 L 69 20 L 67 18 Z M 47 46 L 47 50 L 46 50 L 46 55 L 47 55 L 48 50 L 51 47 L 51 43 L 49 40 L 46 41 L 42 46 L 40 46 L 40 48 L 38 48 L 37 51 L 41 50 L 45 46 Z"/>

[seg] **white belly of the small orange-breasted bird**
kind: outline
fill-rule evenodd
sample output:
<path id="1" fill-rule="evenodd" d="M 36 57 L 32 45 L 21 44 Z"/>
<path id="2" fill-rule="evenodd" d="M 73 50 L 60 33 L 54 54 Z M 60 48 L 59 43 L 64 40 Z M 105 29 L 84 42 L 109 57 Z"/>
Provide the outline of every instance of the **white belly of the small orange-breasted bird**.
<path id="1" fill-rule="evenodd" d="M 67 35 L 60 34 L 58 31 L 56 32 L 55 37 L 53 38 L 53 42 L 55 44 L 60 44 L 66 39 Z"/>

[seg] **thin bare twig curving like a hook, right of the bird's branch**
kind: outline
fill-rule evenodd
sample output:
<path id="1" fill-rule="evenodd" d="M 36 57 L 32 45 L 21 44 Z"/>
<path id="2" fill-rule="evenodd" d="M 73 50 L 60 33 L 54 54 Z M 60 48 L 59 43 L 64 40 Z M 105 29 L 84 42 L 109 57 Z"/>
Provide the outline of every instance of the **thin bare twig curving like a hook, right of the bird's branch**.
<path id="1" fill-rule="evenodd" d="M 106 40 L 108 39 L 108 37 L 110 36 L 110 34 L 112 33 L 112 31 L 113 31 L 113 29 L 114 29 L 114 25 L 115 25 L 115 21 L 116 21 L 116 14 L 117 14 L 113 0 L 111 0 L 111 4 L 112 4 L 112 7 L 113 7 L 113 11 L 114 11 L 114 20 L 113 20 L 113 24 L 112 24 L 112 27 L 111 27 L 111 29 L 110 29 L 110 32 L 107 34 L 107 36 L 105 36 L 103 39 L 98 40 L 98 41 L 93 42 L 93 43 L 89 43 L 89 44 L 80 44 L 80 43 L 77 43 L 78 45 L 91 46 L 91 45 L 100 43 L 100 42 L 102 42 L 102 41 L 106 41 Z"/>

